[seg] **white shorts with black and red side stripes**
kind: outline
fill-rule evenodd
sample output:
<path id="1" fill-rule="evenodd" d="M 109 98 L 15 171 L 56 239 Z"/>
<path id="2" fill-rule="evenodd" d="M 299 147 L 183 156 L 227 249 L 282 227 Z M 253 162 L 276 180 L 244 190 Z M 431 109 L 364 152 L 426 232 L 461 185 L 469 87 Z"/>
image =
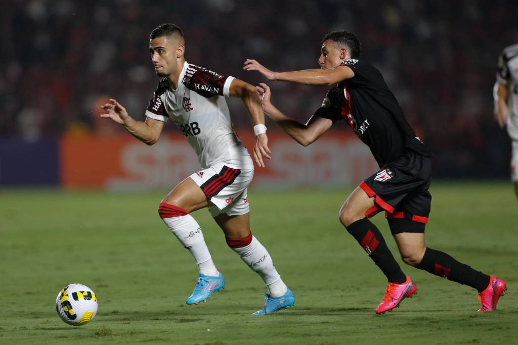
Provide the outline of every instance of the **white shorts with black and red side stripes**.
<path id="1" fill-rule="evenodd" d="M 202 188 L 214 206 L 209 206 L 212 217 L 226 213 L 228 216 L 250 212 L 247 187 L 252 182 L 253 169 L 244 170 L 215 164 L 192 174 L 193 181 Z"/>

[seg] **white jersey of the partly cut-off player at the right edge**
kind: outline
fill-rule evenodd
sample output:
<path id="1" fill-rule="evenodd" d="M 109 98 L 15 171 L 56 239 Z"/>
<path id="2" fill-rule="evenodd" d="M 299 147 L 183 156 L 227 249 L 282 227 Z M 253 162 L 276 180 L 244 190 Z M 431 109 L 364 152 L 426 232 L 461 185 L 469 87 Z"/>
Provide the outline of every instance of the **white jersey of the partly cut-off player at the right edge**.
<path id="1" fill-rule="evenodd" d="M 518 44 L 505 48 L 500 54 L 496 79 L 508 87 L 507 131 L 512 140 L 518 140 Z"/>

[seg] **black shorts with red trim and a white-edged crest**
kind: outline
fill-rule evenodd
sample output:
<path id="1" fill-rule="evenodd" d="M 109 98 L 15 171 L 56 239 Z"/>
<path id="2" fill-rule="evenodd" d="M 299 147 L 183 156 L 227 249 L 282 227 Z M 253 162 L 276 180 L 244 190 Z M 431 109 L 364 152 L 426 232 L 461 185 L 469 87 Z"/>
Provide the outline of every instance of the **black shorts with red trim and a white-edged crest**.
<path id="1" fill-rule="evenodd" d="M 424 232 L 431 204 L 430 173 L 430 158 L 414 151 L 406 151 L 385 164 L 359 185 L 369 197 L 375 198 L 374 206 L 365 216 L 385 210 L 393 235 Z"/>

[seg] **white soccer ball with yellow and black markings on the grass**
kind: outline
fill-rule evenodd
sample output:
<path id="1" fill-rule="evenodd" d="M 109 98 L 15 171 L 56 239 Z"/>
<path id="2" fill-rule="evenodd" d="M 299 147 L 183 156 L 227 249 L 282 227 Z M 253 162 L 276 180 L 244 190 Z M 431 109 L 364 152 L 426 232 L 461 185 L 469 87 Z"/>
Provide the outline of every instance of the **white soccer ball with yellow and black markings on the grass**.
<path id="1" fill-rule="evenodd" d="M 70 284 L 56 298 L 56 310 L 61 320 L 69 325 L 89 323 L 97 313 L 97 297 L 87 286 Z"/>

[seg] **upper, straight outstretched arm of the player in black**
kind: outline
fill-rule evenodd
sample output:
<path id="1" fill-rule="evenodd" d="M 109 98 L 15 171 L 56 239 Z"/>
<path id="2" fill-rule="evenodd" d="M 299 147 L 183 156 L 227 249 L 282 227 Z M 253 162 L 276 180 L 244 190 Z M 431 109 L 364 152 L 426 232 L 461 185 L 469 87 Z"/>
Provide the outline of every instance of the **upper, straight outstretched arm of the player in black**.
<path id="1" fill-rule="evenodd" d="M 347 66 L 328 69 L 305 69 L 293 72 L 274 72 L 253 59 L 246 59 L 243 69 L 258 71 L 268 80 L 289 81 L 304 85 L 333 85 L 354 77 L 353 70 Z"/>

